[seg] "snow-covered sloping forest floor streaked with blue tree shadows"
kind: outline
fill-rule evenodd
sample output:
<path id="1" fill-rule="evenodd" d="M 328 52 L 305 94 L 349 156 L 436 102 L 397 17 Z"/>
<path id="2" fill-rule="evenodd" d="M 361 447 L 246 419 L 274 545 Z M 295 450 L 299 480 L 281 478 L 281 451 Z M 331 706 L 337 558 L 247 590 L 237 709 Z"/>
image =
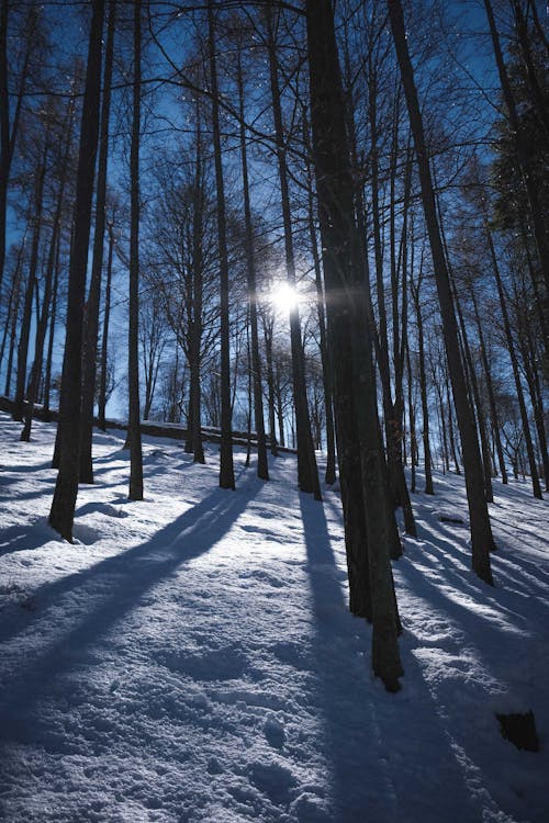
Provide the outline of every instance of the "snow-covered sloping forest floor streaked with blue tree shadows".
<path id="1" fill-rule="evenodd" d="M 470 572 L 462 481 L 414 496 L 394 564 L 405 677 L 370 673 L 346 608 L 340 504 L 291 455 L 144 443 L 130 503 L 120 433 L 97 433 L 76 542 L 47 526 L 54 428 L 0 415 L 0 819 L 13 823 L 511 823 L 549 820 L 549 505 L 495 486 L 496 587 Z M 536 717 L 517 749 L 495 712 Z"/>

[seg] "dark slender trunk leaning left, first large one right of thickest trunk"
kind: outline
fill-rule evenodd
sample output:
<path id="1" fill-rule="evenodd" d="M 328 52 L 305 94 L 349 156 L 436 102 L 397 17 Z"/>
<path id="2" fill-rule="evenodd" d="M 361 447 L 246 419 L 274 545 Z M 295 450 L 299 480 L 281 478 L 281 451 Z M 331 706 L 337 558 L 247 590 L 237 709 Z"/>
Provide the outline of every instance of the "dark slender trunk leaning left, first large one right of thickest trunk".
<path id="1" fill-rule="evenodd" d="M 459 352 L 458 328 L 453 314 L 450 279 L 438 224 L 435 192 L 429 168 L 429 157 L 423 127 L 422 112 L 414 81 L 414 70 L 410 59 L 406 30 L 401 0 L 388 0 L 389 18 L 393 33 L 396 57 L 401 69 L 404 93 L 414 137 L 414 146 L 419 171 L 422 203 L 429 237 L 430 251 L 435 268 L 446 356 L 453 392 L 453 403 L 463 449 L 466 467 L 466 488 L 471 523 L 472 567 L 485 583 L 493 585 L 490 567 L 490 551 L 494 548 L 488 505 L 484 499 L 484 480 L 482 461 L 477 440 L 474 417 L 467 394 L 467 383 Z"/>

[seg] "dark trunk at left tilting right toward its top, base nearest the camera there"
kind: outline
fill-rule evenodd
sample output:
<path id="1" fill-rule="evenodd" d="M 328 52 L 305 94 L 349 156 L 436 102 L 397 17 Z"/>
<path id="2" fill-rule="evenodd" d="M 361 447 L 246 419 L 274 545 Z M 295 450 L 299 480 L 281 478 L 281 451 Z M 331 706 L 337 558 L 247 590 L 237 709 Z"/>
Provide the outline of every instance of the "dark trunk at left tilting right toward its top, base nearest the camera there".
<path id="1" fill-rule="evenodd" d="M 91 200 L 98 147 L 104 0 L 92 0 L 91 9 L 92 16 L 76 180 L 74 238 L 69 264 L 67 337 L 65 341 L 59 402 L 59 472 L 49 511 L 51 526 L 61 537 L 66 538 L 66 540 L 72 540 L 72 523 L 80 469 L 83 301 L 90 239 Z"/>

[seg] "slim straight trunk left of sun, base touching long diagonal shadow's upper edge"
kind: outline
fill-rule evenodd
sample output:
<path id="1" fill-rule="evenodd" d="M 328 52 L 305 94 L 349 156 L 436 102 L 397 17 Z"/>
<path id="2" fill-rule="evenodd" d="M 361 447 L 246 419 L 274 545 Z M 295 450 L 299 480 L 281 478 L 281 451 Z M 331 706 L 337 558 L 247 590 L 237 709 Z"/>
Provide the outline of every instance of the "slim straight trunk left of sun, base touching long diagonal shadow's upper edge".
<path id="1" fill-rule="evenodd" d="M 212 136 L 217 193 L 217 240 L 220 250 L 220 323 L 221 323 L 221 448 L 220 486 L 235 488 L 233 465 L 233 415 L 231 403 L 229 312 L 228 312 L 228 251 L 225 215 L 225 184 L 221 154 L 217 61 L 215 55 L 214 4 L 208 0 L 208 32 L 210 52 L 210 82 L 212 87 Z"/>

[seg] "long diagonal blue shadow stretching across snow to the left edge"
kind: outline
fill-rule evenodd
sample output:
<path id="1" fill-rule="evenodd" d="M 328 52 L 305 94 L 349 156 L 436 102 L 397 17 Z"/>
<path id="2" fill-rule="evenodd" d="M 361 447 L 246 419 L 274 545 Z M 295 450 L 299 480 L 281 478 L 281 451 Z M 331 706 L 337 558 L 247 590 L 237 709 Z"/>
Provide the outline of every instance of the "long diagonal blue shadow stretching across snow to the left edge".
<path id="1" fill-rule="evenodd" d="M 48 686 L 72 667 L 70 650 L 80 652 L 98 643 L 148 589 L 181 565 L 206 553 L 228 531 L 260 488 L 261 484 L 250 478 L 234 493 L 215 489 L 150 540 L 82 573 L 68 575 L 37 589 L 33 595 L 34 620 L 36 615 L 41 617 L 36 633 L 45 624 L 54 638 L 48 643 L 48 638 L 42 636 L 37 653 L 11 678 L 4 679 L 0 703 L 0 728 L 4 740 L 10 736 L 24 740 L 26 734 L 33 734 L 36 722 L 33 708 L 47 694 Z M 90 589 L 88 597 L 87 587 Z M 83 613 L 67 631 L 56 633 L 54 609 L 59 607 L 64 595 L 74 599 L 75 593 L 81 598 Z M 19 620 L 11 631 L 7 625 L 7 631 L 1 632 L 2 640 L 16 635 L 27 623 L 25 621 L 22 625 Z"/>

